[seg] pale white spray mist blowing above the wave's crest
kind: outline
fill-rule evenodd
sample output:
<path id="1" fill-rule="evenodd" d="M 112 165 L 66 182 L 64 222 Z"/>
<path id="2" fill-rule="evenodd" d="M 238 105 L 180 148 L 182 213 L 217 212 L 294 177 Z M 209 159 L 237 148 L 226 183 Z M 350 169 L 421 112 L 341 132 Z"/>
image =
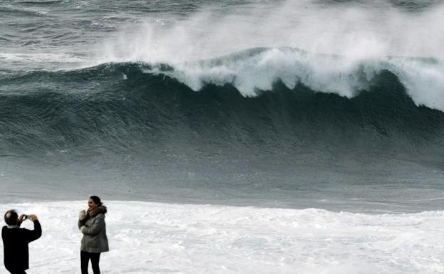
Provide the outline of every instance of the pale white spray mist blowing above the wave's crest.
<path id="1" fill-rule="evenodd" d="M 282 46 L 358 59 L 444 57 L 440 29 L 444 5 L 406 13 L 384 1 L 372 3 L 259 1 L 223 8 L 202 6 L 185 19 L 157 14 L 121 28 L 100 44 L 97 58 L 176 63 Z"/>

